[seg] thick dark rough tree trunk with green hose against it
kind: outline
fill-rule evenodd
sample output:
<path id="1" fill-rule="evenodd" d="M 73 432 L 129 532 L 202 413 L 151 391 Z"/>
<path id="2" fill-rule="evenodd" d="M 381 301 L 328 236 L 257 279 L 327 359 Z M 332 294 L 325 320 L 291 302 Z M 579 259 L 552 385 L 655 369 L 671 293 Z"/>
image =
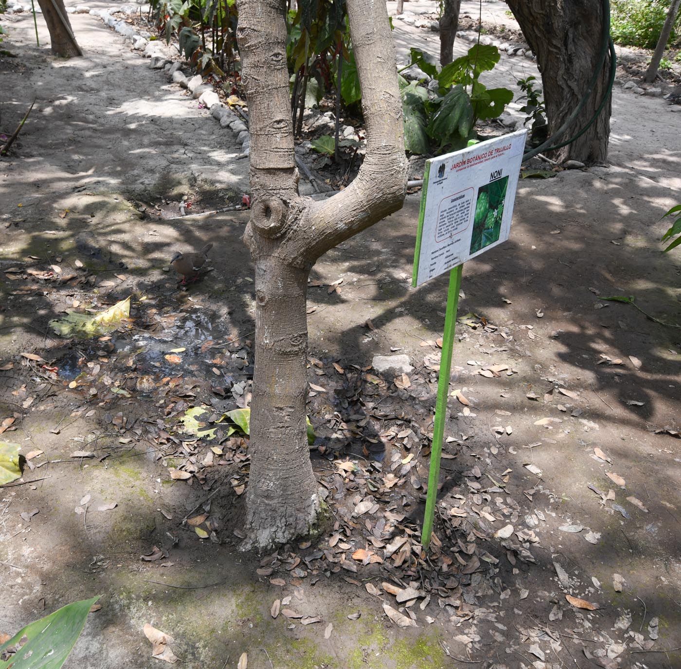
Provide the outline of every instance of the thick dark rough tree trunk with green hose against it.
<path id="1" fill-rule="evenodd" d="M 523 35 L 537 56 L 543 82 L 548 116 L 548 134 L 552 136 L 580 104 L 603 48 L 603 7 L 595 0 L 508 0 Z M 556 142 L 575 136 L 592 118 L 603 97 L 609 95 L 607 80 L 610 59 L 605 62 L 595 87 L 576 119 Z M 610 135 L 611 103 L 598 119 L 575 142 L 552 152 L 559 162 L 578 160 L 584 164 L 603 163 L 607 159 Z"/>

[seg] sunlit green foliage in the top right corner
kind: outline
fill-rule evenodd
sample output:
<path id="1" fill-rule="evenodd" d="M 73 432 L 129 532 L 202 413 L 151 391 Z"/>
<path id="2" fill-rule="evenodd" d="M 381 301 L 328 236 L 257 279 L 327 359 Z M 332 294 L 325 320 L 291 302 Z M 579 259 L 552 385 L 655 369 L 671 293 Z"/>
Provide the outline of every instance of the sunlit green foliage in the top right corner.
<path id="1" fill-rule="evenodd" d="M 671 0 L 614 0 L 610 3 L 612 39 L 623 46 L 655 48 L 667 18 Z M 681 14 L 677 17 L 670 42 L 681 35 Z"/>

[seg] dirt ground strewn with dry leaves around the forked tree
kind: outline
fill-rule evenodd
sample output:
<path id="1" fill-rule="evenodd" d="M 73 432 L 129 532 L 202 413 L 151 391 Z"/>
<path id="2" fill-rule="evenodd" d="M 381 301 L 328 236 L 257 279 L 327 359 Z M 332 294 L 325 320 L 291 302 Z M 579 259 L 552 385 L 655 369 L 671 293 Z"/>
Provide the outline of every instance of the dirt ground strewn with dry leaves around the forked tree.
<path id="1" fill-rule="evenodd" d="M 617 88 L 609 165 L 522 180 L 510 240 L 466 264 L 452 391 L 468 404 L 450 400 L 443 546 L 429 559 L 417 539 L 446 277 L 410 287 L 419 194 L 317 264 L 312 455 L 332 527 L 261 562 L 238 550 L 244 440 L 225 436 L 214 459 L 177 422 L 248 401 L 248 213 L 149 216 L 183 196 L 240 202 L 247 161 L 121 37 L 71 18 L 86 57 L 59 61 L 35 47 L 31 16 L 3 17 L 17 57 L 0 57 L 2 130 L 37 102 L 0 164 L 0 422 L 14 418 L 0 439 L 43 453 L 0 490 L 0 632 L 100 594 L 66 667 L 161 666 L 145 623 L 193 668 L 236 667 L 244 652 L 251 669 L 681 666 L 681 255 L 659 244 L 681 202 L 681 115 Z M 178 290 L 172 254 L 208 241 L 214 270 Z M 110 339 L 48 328 L 127 296 L 131 318 Z M 635 296 L 669 325 L 599 296 Z M 411 386 L 366 377 L 375 354 L 396 352 Z M 183 522 L 197 516 L 214 541 Z M 406 555 L 389 555 L 405 537 Z M 383 582 L 419 591 L 403 610 L 416 626 L 387 617 L 383 604 L 404 603 Z M 275 600 L 297 617 L 274 619 Z"/>

